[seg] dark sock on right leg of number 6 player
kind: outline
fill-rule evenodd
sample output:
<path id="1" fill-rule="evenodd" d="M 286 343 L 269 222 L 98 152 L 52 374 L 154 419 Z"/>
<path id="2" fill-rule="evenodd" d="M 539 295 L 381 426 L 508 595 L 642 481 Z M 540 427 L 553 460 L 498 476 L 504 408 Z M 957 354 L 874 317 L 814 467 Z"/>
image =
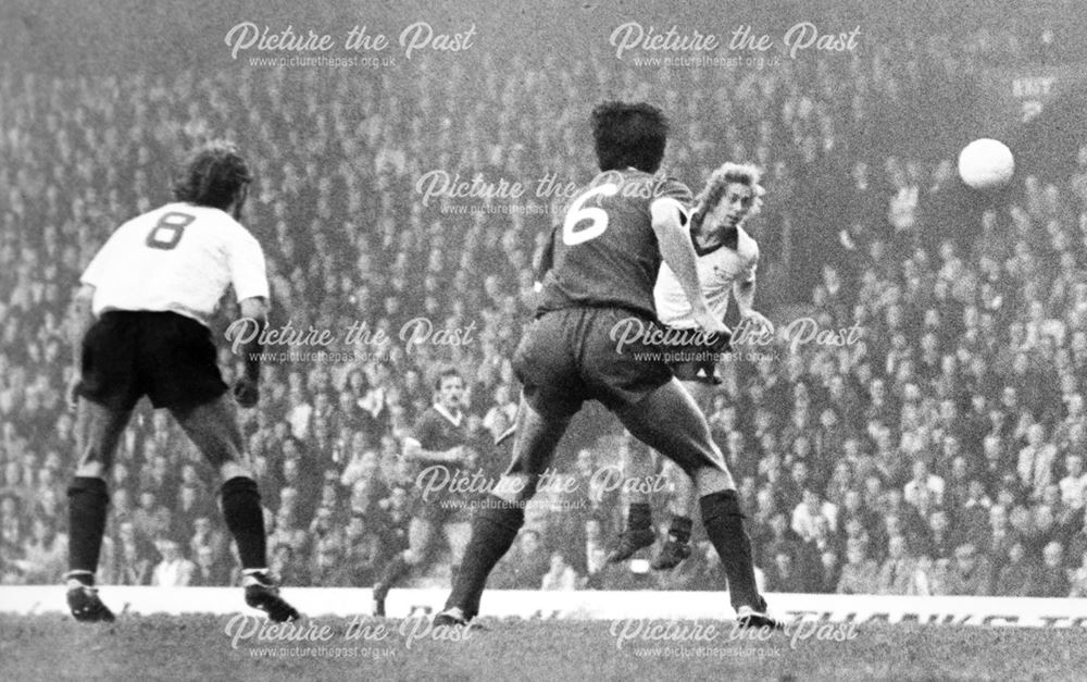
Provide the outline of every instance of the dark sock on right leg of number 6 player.
<path id="1" fill-rule="evenodd" d="M 710 536 L 728 576 L 728 596 L 733 608 L 750 606 L 762 610 L 762 598 L 754 584 L 751 538 L 744 530 L 744 513 L 736 491 L 711 493 L 702 497 L 699 505 L 705 534 Z"/>

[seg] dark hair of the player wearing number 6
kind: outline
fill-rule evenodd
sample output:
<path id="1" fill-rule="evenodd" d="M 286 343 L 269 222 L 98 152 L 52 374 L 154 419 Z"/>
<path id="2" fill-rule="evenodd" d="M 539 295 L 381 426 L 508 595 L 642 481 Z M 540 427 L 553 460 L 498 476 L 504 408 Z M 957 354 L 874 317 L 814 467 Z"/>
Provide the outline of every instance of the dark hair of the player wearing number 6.
<path id="1" fill-rule="evenodd" d="M 592 110 L 592 139 L 601 171 L 655 173 L 664 158 L 669 121 L 646 102 L 602 102 Z"/>

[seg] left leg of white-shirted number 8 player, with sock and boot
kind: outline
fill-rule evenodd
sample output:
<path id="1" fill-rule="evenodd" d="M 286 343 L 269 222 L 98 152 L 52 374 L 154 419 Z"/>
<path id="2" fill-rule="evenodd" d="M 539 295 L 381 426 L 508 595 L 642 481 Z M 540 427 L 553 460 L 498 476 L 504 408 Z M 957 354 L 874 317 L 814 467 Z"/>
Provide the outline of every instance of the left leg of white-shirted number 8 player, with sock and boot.
<path id="1" fill-rule="evenodd" d="M 110 503 L 105 476 L 132 410 L 112 409 L 80 397 L 76 407 L 79 464 L 68 487 L 67 603 L 82 621 L 112 621 L 113 612 L 98 598 L 95 573 L 105 534 Z"/>

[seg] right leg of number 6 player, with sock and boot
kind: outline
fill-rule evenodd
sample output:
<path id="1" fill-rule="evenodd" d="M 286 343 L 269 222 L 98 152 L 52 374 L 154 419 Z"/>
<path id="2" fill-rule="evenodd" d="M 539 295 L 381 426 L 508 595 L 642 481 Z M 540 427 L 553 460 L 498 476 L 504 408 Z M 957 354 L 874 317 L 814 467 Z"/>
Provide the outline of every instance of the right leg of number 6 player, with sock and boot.
<path id="1" fill-rule="evenodd" d="M 673 379 L 616 412 L 638 439 L 675 460 L 695 481 L 702 523 L 728 576 L 728 595 L 744 625 L 777 627 L 754 582 L 751 540 L 744 529 L 736 484 L 695 399 Z"/>

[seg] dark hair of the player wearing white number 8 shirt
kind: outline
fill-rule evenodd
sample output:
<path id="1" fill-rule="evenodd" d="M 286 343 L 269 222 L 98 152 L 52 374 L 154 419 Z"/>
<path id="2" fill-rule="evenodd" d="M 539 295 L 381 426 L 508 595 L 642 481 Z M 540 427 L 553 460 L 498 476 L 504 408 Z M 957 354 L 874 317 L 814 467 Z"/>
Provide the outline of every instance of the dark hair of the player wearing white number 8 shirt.
<path id="1" fill-rule="evenodd" d="M 252 179 L 238 148 L 225 140 L 214 140 L 189 156 L 174 183 L 174 198 L 225 210 Z"/>

